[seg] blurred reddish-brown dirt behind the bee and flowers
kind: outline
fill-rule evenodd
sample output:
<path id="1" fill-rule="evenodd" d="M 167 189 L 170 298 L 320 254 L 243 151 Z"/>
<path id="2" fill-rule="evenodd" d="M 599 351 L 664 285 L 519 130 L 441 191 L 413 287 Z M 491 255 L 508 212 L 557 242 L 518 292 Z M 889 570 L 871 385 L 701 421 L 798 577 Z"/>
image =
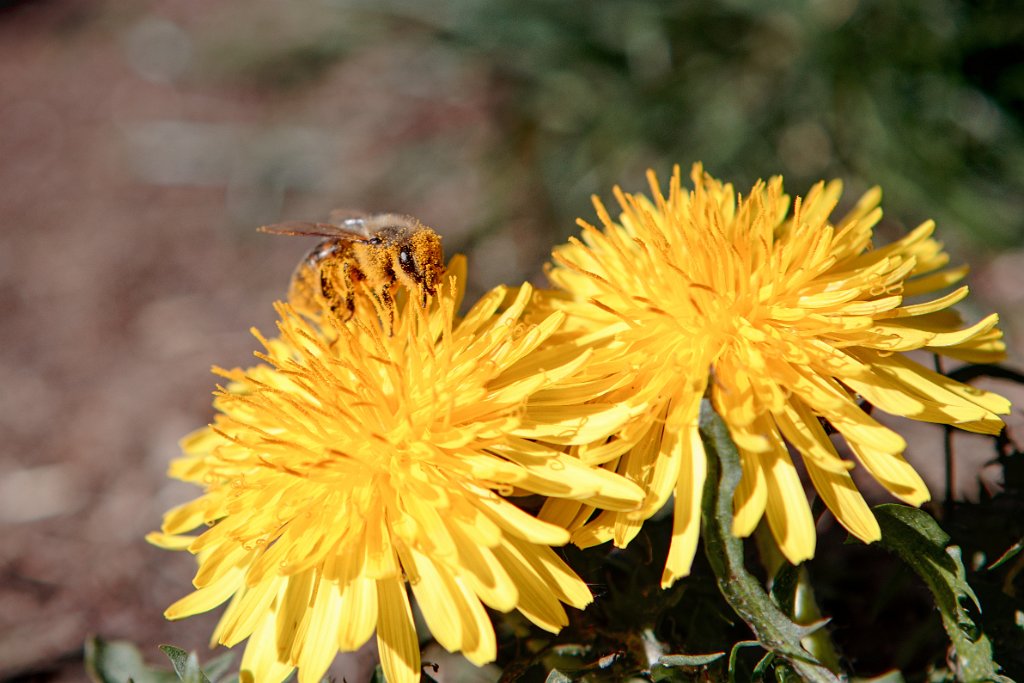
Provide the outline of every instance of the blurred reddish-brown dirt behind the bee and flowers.
<path id="1" fill-rule="evenodd" d="M 488 170 L 505 141 L 501 84 L 419 38 L 313 51 L 308 73 L 254 81 L 232 60 L 315 34 L 315 12 L 0 7 L 0 677 L 77 680 L 90 634 L 153 660 L 162 642 L 205 652 L 215 615 L 161 615 L 187 592 L 191 559 L 142 538 L 196 493 L 165 471 L 211 418 L 210 366 L 252 360 L 248 329 L 272 331 L 270 304 L 308 249 L 257 225 L 337 207 L 411 213 L 468 253 L 476 292 L 543 282 L 573 227 L 532 204 L 539 179 Z M 644 188 L 645 159 L 621 169 L 627 189 Z M 610 194 L 596 176 L 573 182 Z M 974 311 L 1002 313 L 1019 360 L 1024 252 L 951 242 L 975 266 Z M 938 492 L 936 460 L 923 467 Z"/>

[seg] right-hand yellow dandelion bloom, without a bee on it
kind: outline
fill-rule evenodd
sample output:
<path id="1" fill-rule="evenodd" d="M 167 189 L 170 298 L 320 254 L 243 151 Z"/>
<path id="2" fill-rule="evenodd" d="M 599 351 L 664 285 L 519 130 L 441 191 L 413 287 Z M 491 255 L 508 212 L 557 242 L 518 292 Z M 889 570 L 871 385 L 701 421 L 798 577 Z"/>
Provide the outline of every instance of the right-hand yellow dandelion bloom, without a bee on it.
<path id="1" fill-rule="evenodd" d="M 555 249 L 549 275 L 561 292 L 547 299 L 571 314 L 581 343 L 604 341 L 607 359 L 595 356 L 593 372 L 628 369 L 621 399 L 647 405 L 644 422 L 579 451 L 639 482 L 648 492 L 643 514 L 602 513 L 573 541 L 625 545 L 674 494 L 664 585 L 689 572 L 696 547 L 706 470 L 697 416 L 706 391 L 741 454 L 735 533 L 751 533 L 767 517 L 795 563 L 813 555 L 815 532 L 787 444 L 839 521 L 871 542 L 879 525 L 850 477 L 854 463 L 837 454 L 822 421 L 889 492 L 920 505 L 929 493 L 903 459 L 903 438 L 859 399 L 988 434 L 999 431 L 997 415 L 1010 410 L 1002 397 L 905 355 L 926 349 L 993 361 L 1004 354 L 996 315 L 965 327 L 950 310 L 967 287 L 926 296 L 967 272 L 946 267 L 931 221 L 873 247 L 878 188 L 834 221 L 838 181 L 814 185 L 791 211 L 780 177 L 758 182 L 746 198 L 700 165 L 691 177 L 693 190 L 683 191 L 677 167 L 665 197 L 650 173 L 652 200 L 616 188 L 617 221 L 595 199 L 603 229 L 581 221 L 582 240 Z M 579 527 L 589 515 L 578 504 L 552 501 L 541 516 Z"/>

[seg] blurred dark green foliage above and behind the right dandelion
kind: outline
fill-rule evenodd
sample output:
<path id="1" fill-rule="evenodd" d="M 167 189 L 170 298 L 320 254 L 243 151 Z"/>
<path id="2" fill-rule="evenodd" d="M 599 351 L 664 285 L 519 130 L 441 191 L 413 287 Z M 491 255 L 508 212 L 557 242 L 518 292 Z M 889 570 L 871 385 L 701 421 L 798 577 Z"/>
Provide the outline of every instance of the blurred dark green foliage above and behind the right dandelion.
<path id="1" fill-rule="evenodd" d="M 483 70 L 495 220 L 555 239 L 588 196 L 703 161 L 740 189 L 839 177 L 890 216 L 1024 236 L 1024 6 L 963 0 L 336 0 L 315 40 L 255 41 L 289 86 L 370 45 Z M 255 54 L 255 52 L 253 53 Z M 271 67 L 272 65 L 272 67 Z M 240 65 L 236 63 L 236 67 Z M 244 69 L 244 66 L 241 67 Z M 425 152 L 425 154 L 429 154 Z M 852 201 L 854 198 L 848 198 Z"/>

